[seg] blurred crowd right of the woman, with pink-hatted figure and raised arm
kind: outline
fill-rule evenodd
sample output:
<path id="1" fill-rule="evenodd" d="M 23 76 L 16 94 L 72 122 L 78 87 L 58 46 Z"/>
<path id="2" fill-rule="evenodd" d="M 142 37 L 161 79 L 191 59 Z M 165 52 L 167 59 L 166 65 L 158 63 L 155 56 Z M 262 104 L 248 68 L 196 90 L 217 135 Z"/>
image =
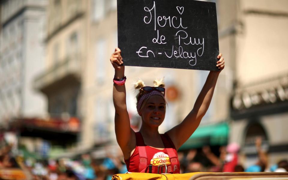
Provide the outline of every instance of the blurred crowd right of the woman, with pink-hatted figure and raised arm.
<path id="1" fill-rule="evenodd" d="M 221 146 L 214 154 L 209 146 L 191 149 L 185 155 L 179 152 L 181 173 L 192 172 L 288 172 L 288 161 L 282 159 L 277 164 L 269 164 L 268 154 L 262 149 L 262 140 L 256 138 L 255 149 L 257 160 L 253 165 L 244 167 L 239 160 L 240 146 L 230 143 Z"/>

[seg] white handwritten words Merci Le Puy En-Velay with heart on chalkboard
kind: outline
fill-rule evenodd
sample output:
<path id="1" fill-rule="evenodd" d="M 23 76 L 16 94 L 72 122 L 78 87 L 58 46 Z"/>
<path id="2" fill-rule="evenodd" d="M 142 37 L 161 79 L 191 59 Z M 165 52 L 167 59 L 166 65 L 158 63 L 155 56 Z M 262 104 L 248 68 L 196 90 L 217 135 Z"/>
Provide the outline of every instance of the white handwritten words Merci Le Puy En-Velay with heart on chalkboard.
<path id="1" fill-rule="evenodd" d="M 172 59 L 172 61 L 174 61 L 175 58 L 185 58 L 188 59 L 188 62 L 191 66 L 196 65 L 197 57 L 201 57 L 204 52 L 204 38 L 190 37 L 186 32 L 186 29 L 188 27 L 182 24 L 181 17 L 177 18 L 176 16 L 157 16 L 155 1 L 152 7 L 144 7 L 144 10 L 146 12 L 149 12 L 148 16 L 144 16 L 144 23 L 154 23 L 154 31 L 157 31 L 157 37 L 152 39 L 153 43 L 167 44 L 167 39 L 165 35 L 160 34 L 161 28 L 165 26 L 176 30 L 175 35 L 173 35 L 172 39 L 173 41 L 178 43 L 173 44 L 171 50 L 166 49 L 161 52 L 154 52 L 152 49 L 149 49 L 146 46 L 141 46 L 140 49 L 136 52 L 139 57 L 148 58 L 153 56 L 154 58 L 156 58 L 156 53 L 158 55 L 166 55 L 166 57 Z M 179 12 L 180 15 L 182 15 L 182 13 L 184 12 L 184 7 L 176 6 L 176 10 Z M 197 50 L 195 52 L 184 50 L 191 49 L 191 46 L 194 46 L 194 49 Z"/>

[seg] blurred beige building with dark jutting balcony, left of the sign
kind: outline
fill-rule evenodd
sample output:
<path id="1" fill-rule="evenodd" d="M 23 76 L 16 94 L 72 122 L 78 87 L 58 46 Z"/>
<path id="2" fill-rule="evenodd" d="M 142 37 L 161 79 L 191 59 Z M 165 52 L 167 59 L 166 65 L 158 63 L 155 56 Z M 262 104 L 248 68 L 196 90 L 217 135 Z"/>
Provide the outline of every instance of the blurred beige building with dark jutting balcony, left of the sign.
<path id="1" fill-rule="evenodd" d="M 33 86 L 47 97 L 47 113 L 52 122 L 59 123 L 60 129 L 46 132 L 52 143 L 52 154 L 59 155 L 67 150 L 76 151 L 81 141 L 81 107 L 85 107 L 81 103 L 81 92 L 88 57 L 89 3 L 51 0 L 47 4 L 45 68 L 36 76 Z"/>

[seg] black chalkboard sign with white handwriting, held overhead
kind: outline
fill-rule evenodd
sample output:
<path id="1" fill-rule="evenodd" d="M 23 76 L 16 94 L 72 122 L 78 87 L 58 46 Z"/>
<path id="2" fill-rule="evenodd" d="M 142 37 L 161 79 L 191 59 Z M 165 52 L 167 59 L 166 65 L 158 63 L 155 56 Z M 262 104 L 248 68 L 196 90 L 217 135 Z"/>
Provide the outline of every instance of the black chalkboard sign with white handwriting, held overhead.
<path id="1" fill-rule="evenodd" d="M 194 0 L 117 0 L 125 66 L 219 70 L 216 5 Z"/>

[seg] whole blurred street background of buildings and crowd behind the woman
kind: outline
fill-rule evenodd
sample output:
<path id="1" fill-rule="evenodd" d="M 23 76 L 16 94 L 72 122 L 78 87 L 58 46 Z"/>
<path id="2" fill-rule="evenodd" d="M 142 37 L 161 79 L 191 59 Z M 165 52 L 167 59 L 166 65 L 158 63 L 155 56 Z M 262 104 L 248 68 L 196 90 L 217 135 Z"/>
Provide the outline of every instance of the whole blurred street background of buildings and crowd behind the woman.
<path id="1" fill-rule="evenodd" d="M 0 2 L 0 176 L 11 167 L 30 179 L 125 173 L 109 61 L 117 47 L 117 1 Z M 222 172 L 229 163 L 230 171 L 288 170 L 288 1 L 211 2 L 225 69 L 199 128 L 179 149 L 182 173 Z M 168 107 L 161 133 L 190 112 L 208 75 L 125 71 L 135 131 L 141 118 L 132 83 L 140 78 L 152 85 L 164 77 Z"/>

